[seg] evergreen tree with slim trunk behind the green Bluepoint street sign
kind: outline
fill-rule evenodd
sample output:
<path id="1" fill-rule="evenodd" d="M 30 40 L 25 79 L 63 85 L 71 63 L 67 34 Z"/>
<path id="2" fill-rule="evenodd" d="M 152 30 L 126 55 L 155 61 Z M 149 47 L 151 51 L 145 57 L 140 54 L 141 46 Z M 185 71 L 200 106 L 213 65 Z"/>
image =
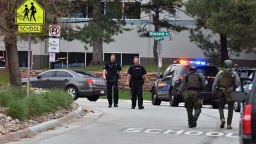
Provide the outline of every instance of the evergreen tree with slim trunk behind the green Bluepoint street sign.
<path id="1" fill-rule="evenodd" d="M 137 0 L 137 2 L 141 2 L 141 0 Z M 149 0 L 146 3 L 141 3 L 142 12 L 145 12 L 148 17 L 153 18 L 153 21 L 142 22 L 137 32 L 141 37 L 149 37 L 147 25 L 154 25 L 154 31 L 168 31 L 169 33 L 179 33 L 181 30 L 187 29 L 186 27 L 176 25 L 173 20 L 173 18 L 177 17 L 178 11 L 182 11 L 181 7 L 181 0 Z M 164 16 L 161 17 L 161 14 Z M 157 64 L 157 41 L 154 41 L 153 54 L 154 63 Z"/>

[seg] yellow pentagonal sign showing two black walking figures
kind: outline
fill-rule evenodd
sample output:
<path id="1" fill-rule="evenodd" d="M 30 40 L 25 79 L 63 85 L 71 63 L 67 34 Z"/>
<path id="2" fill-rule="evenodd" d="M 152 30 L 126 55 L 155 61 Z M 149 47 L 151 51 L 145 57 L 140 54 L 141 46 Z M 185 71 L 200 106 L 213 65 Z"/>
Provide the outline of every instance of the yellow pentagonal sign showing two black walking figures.
<path id="1" fill-rule="evenodd" d="M 16 9 L 17 25 L 44 25 L 44 9 L 35 0 L 26 0 Z"/>

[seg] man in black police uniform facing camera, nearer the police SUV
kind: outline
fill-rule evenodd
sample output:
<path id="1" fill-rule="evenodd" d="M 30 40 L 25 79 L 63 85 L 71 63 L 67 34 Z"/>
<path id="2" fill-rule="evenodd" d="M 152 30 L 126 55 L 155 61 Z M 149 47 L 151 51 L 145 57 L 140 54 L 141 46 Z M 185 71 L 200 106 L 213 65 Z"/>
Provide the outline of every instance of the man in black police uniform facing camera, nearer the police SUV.
<path id="1" fill-rule="evenodd" d="M 131 86 L 132 91 L 132 109 L 136 107 L 137 95 L 138 95 L 138 106 L 139 109 L 143 109 L 143 98 L 142 98 L 142 86 L 147 81 L 147 72 L 145 68 L 139 65 L 139 57 L 133 58 L 134 65 L 132 65 L 127 71 L 126 84 Z M 131 77 L 131 79 L 130 79 Z M 144 79 L 145 81 L 144 81 Z M 129 83 L 129 80 L 130 83 Z"/>

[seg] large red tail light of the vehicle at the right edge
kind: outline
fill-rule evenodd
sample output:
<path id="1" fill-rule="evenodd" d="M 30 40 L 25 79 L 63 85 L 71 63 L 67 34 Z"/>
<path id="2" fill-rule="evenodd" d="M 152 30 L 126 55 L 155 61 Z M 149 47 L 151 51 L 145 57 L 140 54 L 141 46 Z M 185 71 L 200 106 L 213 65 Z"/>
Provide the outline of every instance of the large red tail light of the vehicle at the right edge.
<path id="1" fill-rule="evenodd" d="M 245 105 L 242 120 L 244 134 L 252 134 L 252 105 Z"/>

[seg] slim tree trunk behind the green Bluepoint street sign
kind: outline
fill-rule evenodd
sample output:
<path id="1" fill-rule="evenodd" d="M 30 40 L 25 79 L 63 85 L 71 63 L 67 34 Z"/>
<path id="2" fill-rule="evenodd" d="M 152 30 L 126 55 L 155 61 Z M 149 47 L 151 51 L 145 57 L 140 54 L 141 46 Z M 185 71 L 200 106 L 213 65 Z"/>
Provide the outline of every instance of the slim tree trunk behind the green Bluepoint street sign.
<path id="1" fill-rule="evenodd" d="M 153 17 L 155 31 L 159 31 L 159 8 L 156 8 L 156 16 Z M 153 46 L 154 64 L 158 63 L 158 53 L 157 53 L 157 41 L 154 41 Z"/>

